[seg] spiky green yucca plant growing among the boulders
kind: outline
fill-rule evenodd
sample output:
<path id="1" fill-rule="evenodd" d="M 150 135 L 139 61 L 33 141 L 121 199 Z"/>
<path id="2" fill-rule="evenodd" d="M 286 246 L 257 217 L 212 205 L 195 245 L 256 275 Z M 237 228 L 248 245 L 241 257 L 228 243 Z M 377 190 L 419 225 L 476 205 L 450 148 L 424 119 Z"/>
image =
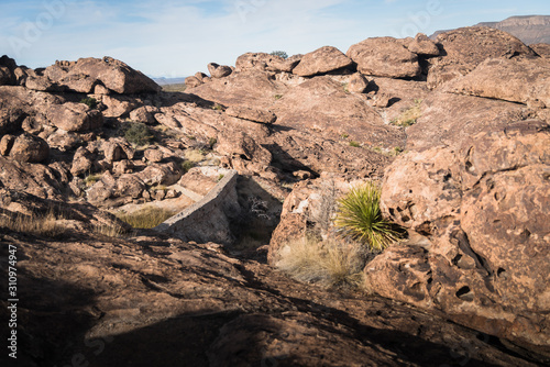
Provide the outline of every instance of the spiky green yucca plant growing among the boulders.
<path id="1" fill-rule="evenodd" d="M 340 231 L 369 246 L 371 251 L 382 251 L 399 240 L 399 232 L 392 222 L 382 216 L 380 188 L 372 182 L 354 187 L 338 200 L 339 210 L 334 225 Z"/>

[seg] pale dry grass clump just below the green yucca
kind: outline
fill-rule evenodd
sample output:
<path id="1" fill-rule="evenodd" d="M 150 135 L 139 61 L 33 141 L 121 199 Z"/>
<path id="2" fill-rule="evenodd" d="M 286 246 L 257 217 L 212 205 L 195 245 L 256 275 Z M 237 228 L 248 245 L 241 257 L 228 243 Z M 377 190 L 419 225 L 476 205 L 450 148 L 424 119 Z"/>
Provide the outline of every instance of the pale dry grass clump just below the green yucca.
<path id="1" fill-rule="evenodd" d="M 299 281 L 359 287 L 365 258 L 365 251 L 358 245 L 305 236 L 286 244 L 277 267 Z"/>

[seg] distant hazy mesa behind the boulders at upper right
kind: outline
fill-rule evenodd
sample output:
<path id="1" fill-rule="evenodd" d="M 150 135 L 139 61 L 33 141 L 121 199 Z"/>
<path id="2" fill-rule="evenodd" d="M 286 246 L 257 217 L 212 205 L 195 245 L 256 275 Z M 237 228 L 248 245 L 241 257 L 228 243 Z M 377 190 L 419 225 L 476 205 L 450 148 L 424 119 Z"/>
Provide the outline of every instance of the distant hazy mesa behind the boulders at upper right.
<path id="1" fill-rule="evenodd" d="M 522 15 L 510 16 L 502 22 L 482 22 L 475 25 L 484 25 L 508 32 L 527 45 L 537 43 L 550 44 L 550 15 Z M 438 34 L 448 32 L 437 31 L 430 38 L 435 40 Z"/>

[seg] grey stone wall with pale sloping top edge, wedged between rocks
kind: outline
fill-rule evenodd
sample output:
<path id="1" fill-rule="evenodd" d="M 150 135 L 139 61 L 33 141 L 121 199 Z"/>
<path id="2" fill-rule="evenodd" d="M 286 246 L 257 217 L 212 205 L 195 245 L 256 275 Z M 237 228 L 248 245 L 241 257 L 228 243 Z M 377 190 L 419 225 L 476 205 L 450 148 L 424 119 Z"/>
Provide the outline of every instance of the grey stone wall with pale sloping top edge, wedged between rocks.
<path id="1" fill-rule="evenodd" d="M 234 236 L 230 230 L 230 221 L 241 211 L 235 188 L 238 177 L 235 170 L 230 170 L 200 201 L 154 230 L 170 233 L 187 242 L 232 244 Z"/>

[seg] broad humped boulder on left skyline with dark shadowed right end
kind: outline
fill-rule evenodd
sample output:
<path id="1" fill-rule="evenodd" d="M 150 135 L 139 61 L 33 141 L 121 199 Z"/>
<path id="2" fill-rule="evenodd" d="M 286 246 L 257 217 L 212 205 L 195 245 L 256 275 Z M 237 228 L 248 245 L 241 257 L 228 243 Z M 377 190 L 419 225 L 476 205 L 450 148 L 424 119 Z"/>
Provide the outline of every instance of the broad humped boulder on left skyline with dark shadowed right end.
<path id="1" fill-rule="evenodd" d="M 96 87 L 103 88 L 96 88 Z M 42 74 L 31 76 L 26 87 L 34 90 L 81 93 L 156 93 L 161 87 L 142 73 L 112 57 L 56 62 Z"/>

